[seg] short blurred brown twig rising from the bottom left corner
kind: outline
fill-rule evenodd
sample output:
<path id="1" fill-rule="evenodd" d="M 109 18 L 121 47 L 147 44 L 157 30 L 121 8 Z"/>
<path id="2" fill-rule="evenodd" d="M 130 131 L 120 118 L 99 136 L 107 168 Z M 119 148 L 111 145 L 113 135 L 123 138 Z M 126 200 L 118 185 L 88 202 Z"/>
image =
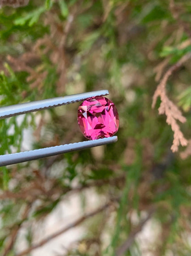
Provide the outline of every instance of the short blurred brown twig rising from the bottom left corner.
<path id="1" fill-rule="evenodd" d="M 28 216 L 28 213 L 29 213 L 29 210 L 31 208 L 31 204 L 28 204 L 22 214 L 22 219 L 25 220 Z M 22 223 L 22 222 L 20 222 Z M 18 231 L 21 227 L 21 224 L 17 225 L 17 226 L 14 226 L 14 228 L 11 230 L 11 234 L 10 236 L 8 237 L 8 241 L 5 245 L 5 250 L 2 254 L 2 256 L 6 256 L 8 255 L 8 253 L 11 251 L 15 241 L 16 241 L 16 238 L 17 238 L 17 234 L 18 234 Z"/>

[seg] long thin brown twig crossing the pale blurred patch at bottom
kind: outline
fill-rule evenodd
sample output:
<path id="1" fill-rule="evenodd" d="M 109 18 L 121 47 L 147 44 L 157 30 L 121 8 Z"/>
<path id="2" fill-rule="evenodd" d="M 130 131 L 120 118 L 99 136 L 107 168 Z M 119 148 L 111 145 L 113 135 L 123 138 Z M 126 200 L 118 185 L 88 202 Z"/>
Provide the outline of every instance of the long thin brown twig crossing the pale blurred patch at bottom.
<path id="1" fill-rule="evenodd" d="M 112 203 L 114 201 L 118 201 L 118 199 L 114 199 L 111 200 L 110 202 L 106 203 L 105 205 L 97 208 L 96 210 L 88 213 L 88 214 L 84 214 L 84 216 L 82 216 L 81 218 L 79 218 L 78 220 L 74 221 L 73 223 L 67 225 L 66 227 L 62 228 L 61 230 L 59 230 L 58 232 L 53 233 L 52 235 L 48 236 L 47 238 L 41 240 L 39 243 L 32 245 L 31 247 L 29 247 L 26 250 L 23 250 L 22 252 L 18 253 L 16 256 L 23 256 L 23 255 L 27 255 L 28 253 L 30 253 L 32 250 L 35 250 L 41 246 L 43 246 L 44 244 L 47 244 L 49 241 L 51 241 L 53 238 L 56 238 L 57 236 L 61 235 L 64 232 L 67 232 L 69 229 L 76 227 L 78 225 L 80 225 L 82 222 L 84 222 L 85 220 L 89 219 L 90 217 L 93 217 L 96 214 L 101 213 L 102 211 L 106 210 L 107 208 L 109 208 Z"/>

